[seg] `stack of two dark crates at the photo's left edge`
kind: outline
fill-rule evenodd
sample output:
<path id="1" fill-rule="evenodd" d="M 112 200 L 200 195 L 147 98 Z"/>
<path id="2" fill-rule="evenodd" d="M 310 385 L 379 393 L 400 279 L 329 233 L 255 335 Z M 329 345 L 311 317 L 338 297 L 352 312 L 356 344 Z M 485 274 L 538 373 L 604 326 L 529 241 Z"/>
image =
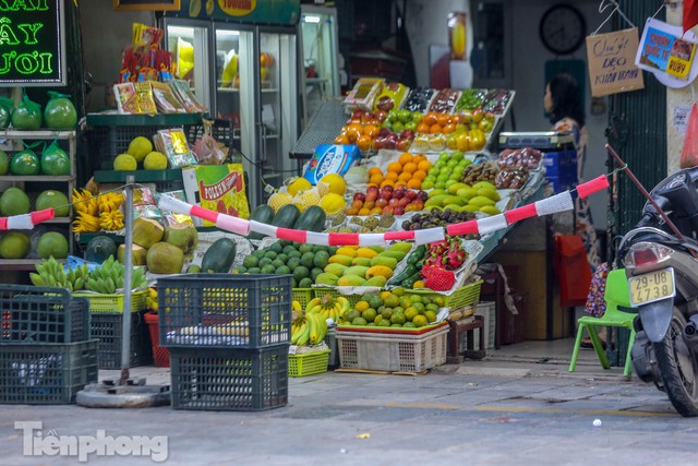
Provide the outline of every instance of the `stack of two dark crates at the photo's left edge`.
<path id="1" fill-rule="evenodd" d="M 89 303 L 67 289 L 0 285 L 0 403 L 72 404 L 97 382 Z"/>

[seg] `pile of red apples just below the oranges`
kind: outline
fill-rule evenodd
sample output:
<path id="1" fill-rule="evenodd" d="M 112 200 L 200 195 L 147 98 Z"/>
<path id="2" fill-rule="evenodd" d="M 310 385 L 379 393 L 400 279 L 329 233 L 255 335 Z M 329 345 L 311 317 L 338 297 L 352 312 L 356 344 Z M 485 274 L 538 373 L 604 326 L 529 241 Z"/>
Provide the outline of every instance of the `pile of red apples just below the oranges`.
<path id="1" fill-rule="evenodd" d="M 426 191 L 416 191 L 406 188 L 386 186 L 381 189 L 369 187 L 365 194 L 358 192 L 353 195 L 351 205 L 345 211 L 347 215 L 390 214 L 402 215 L 406 212 L 424 210 L 424 202 L 429 199 Z"/>

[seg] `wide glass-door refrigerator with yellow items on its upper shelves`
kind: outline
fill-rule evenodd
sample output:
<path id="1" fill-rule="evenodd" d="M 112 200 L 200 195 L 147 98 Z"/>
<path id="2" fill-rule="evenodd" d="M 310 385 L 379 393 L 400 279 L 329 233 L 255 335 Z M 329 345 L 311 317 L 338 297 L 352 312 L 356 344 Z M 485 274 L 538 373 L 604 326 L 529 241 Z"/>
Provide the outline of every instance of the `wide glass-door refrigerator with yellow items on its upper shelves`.
<path id="1" fill-rule="evenodd" d="M 216 7 L 217 8 L 217 7 Z M 298 17 L 258 25 L 163 16 L 165 44 L 209 116 L 231 123 L 251 207 L 296 174 L 289 153 L 300 134 Z"/>

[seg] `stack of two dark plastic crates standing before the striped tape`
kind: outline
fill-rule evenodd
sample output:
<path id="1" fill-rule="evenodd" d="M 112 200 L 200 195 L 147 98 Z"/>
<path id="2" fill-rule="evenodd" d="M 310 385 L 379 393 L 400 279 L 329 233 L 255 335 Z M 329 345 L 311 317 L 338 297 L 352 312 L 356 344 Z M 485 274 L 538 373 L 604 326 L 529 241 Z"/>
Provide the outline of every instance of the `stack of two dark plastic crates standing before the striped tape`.
<path id="1" fill-rule="evenodd" d="M 257 411 L 288 403 L 290 275 L 188 274 L 157 286 L 174 409 Z"/>

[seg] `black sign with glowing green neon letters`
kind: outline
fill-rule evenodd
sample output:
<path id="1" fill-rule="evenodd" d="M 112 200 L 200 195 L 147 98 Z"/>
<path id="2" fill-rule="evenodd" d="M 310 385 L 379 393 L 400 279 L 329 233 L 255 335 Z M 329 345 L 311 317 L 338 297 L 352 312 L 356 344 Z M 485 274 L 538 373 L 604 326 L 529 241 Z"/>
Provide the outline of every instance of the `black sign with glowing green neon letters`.
<path id="1" fill-rule="evenodd" d="M 65 84 L 62 0 L 0 0 L 0 86 Z"/>

